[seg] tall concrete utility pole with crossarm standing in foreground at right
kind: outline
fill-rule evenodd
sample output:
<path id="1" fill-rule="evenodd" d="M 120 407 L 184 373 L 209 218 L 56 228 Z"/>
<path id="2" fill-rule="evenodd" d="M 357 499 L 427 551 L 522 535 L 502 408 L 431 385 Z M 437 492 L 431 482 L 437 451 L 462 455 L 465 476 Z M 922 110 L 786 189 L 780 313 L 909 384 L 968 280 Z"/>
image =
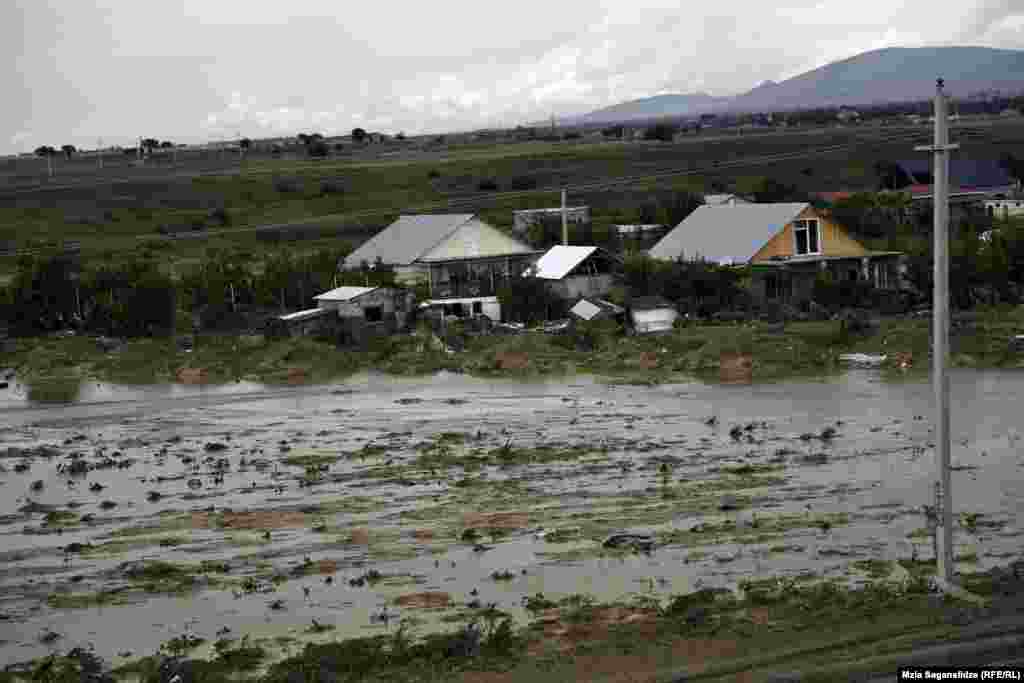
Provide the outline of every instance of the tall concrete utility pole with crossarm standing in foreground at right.
<path id="1" fill-rule="evenodd" d="M 935 511 L 939 517 L 939 556 L 936 558 L 938 580 L 945 587 L 953 580 L 952 500 L 949 467 L 949 377 L 946 374 L 949 354 L 949 152 L 958 144 L 949 144 L 946 95 L 942 79 L 935 88 L 935 143 L 915 147 L 935 155 L 935 287 L 932 295 L 932 386 L 935 392 L 935 460 L 939 466 L 935 482 Z"/>

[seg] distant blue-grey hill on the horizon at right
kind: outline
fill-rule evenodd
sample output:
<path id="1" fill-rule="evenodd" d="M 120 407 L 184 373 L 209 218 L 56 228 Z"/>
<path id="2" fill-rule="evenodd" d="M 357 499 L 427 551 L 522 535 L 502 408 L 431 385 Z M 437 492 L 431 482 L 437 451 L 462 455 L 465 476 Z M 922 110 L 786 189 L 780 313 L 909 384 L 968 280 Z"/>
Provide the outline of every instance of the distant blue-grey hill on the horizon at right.
<path id="1" fill-rule="evenodd" d="M 890 47 L 834 61 L 785 81 L 765 81 L 731 97 L 656 95 L 573 117 L 566 123 L 613 123 L 713 112 L 771 112 L 926 99 L 935 79 L 954 97 L 1024 90 L 1024 50 L 989 47 Z"/>

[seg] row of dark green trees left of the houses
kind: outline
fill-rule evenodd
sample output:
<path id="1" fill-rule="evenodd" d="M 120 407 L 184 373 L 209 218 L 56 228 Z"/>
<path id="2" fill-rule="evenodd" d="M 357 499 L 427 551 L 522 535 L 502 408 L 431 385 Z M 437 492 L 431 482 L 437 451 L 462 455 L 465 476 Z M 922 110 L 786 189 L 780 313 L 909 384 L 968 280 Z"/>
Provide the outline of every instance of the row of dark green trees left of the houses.
<path id="1" fill-rule="evenodd" d="M 211 250 L 199 264 L 172 276 L 159 255 L 111 255 L 82 267 L 65 255 L 26 257 L 13 281 L 0 288 L 0 318 L 14 334 L 33 335 L 75 324 L 118 336 L 170 333 L 179 312 L 228 321 L 244 309 L 285 311 L 311 305 L 336 284 L 364 284 L 358 273 L 339 279 L 347 245 L 307 255 L 282 250 L 257 259 L 243 251 Z"/>

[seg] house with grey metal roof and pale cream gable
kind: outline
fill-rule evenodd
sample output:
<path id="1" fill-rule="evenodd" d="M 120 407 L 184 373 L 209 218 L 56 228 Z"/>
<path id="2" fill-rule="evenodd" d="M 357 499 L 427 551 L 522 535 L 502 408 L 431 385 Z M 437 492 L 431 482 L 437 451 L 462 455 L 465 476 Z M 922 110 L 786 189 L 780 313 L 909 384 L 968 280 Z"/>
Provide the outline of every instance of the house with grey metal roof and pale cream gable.
<path id="1" fill-rule="evenodd" d="M 498 289 L 539 254 L 474 214 L 403 215 L 345 258 L 343 267 L 386 267 L 399 285 L 424 284 L 428 307 L 501 319 Z"/>

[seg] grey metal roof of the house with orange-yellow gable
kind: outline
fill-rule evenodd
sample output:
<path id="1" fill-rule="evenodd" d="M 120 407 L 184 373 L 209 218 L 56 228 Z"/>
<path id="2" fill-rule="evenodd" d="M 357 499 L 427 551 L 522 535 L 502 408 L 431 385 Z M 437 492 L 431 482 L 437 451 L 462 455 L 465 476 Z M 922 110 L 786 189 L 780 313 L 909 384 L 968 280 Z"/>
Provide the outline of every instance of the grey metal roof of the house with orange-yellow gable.
<path id="1" fill-rule="evenodd" d="M 652 258 L 701 259 L 715 263 L 745 263 L 806 203 L 701 206 L 648 252 Z"/>

